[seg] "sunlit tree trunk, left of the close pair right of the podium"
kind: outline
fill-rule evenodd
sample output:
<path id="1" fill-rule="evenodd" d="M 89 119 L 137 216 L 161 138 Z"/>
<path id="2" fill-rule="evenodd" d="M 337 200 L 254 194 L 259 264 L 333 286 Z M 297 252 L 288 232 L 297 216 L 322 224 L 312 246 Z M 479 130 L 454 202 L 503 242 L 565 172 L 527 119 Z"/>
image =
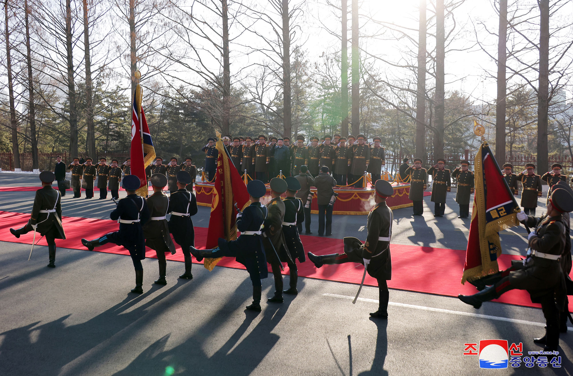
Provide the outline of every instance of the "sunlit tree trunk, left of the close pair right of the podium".
<path id="1" fill-rule="evenodd" d="M 418 30 L 418 91 L 416 93 L 416 155 L 426 154 L 426 0 L 420 0 Z"/>

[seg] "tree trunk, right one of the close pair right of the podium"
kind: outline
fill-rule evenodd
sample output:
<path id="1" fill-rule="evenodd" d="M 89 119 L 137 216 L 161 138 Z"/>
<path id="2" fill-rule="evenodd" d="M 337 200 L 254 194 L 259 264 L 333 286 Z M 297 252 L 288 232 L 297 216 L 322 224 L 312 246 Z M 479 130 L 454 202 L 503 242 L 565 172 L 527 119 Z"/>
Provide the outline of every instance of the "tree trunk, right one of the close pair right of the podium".
<path id="1" fill-rule="evenodd" d="M 435 99 L 434 99 L 434 163 L 444 158 L 444 96 L 445 96 L 445 29 L 444 0 L 435 2 Z"/>

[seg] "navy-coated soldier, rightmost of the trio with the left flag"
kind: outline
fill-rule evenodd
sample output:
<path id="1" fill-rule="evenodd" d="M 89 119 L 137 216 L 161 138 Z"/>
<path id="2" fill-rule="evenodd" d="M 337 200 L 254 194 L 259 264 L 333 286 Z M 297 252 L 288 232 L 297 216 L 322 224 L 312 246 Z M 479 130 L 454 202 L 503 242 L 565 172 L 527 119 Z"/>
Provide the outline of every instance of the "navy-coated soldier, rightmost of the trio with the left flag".
<path id="1" fill-rule="evenodd" d="M 195 229 L 193 217 L 197 214 L 197 198 L 193 192 L 186 189 L 192 182 L 191 176 L 185 171 L 177 173 L 178 190 L 171 194 L 167 213 L 169 218 L 169 232 L 173 234 L 175 242 L 181 246 L 185 260 L 185 273 L 179 276 L 182 279 L 193 279 L 191 274 L 191 247 L 195 245 Z M 198 257 L 198 254 L 194 254 Z M 199 260 L 200 261 L 200 260 Z"/>

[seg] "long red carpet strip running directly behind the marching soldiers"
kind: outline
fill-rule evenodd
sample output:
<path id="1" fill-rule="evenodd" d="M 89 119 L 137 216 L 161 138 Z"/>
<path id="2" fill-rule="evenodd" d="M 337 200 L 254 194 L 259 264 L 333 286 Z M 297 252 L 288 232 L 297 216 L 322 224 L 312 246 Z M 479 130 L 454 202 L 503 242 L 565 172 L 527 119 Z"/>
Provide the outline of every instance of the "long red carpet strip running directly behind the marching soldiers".
<path id="1" fill-rule="evenodd" d="M 4 234 L 2 240 L 32 244 L 32 232 L 21 236 L 19 239 L 12 236 L 9 232 L 10 227 L 20 227 L 24 225 L 29 217 L 29 214 L 0 211 L 0 233 Z M 117 222 L 111 220 L 64 217 L 63 222 L 67 239 L 57 241 L 58 247 L 61 248 L 83 250 L 85 248 L 81 244 L 81 238 L 86 236 L 91 238 L 98 234 L 105 234 L 117 230 Z M 95 232 L 94 229 L 97 229 L 97 232 Z M 198 248 L 204 248 L 206 236 L 207 228 L 195 227 L 195 244 Z M 316 254 L 343 252 L 343 244 L 340 239 L 304 235 L 301 236 L 301 239 L 303 240 L 305 249 L 307 249 L 307 251 L 312 250 L 312 252 Z M 42 239 L 38 244 L 46 245 L 46 241 Z M 173 256 L 167 256 L 168 260 L 183 261 L 183 254 L 179 246 L 177 246 L 177 248 L 177 253 Z M 96 249 L 100 252 L 128 254 L 127 250 L 123 247 L 113 244 L 106 244 Z M 393 244 L 391 245 L 391 254 L 393 271 L 392 280 L 388 281 L 390 288 L 446 296 L 457 296 L 458 293 L 471 294 L 476 292 L 476 289 L 469 283 L 466 283 L 466 285 L 460 284 L 465 261 L 465 250 Z M 25 256 L 26 255 L 23 255 L 22 257 Z M 155 251 L 148 249 L 147 257 L 155 257 Z M 516 258 L 519 258 L 519 256 L 502 254 L 499 260 L 500 268 L 508 268 L 511 265 L 511 260 Z M 234 258 L 225 257 L 218 265 L 244 269 Z M 360 284 L 363 271 L 362 265 L 354 263 L 324 265 L 320 269 L 316 269 L 315 265 L 308 260 L 303 264 L 299 264 L 300 276 L 355 284 Z M 288 267 L 286 266 L 285 274 L 288 274 Z M 288 283 L 288 281 L 285 283 Z M 376 286 L 376 280 L 368 275 L 366 275 L 364 283 Z M 526 307 L 540 307 L 539 304 L 532 304 L 529 299 L 529 294 L 521 290 L 509 291 L 496 301 L 524 305 Z M 460 304 L 463 303 L 460 302 Z M 573 311 L 573 301 L 569 303 L 569 310 Z"/>

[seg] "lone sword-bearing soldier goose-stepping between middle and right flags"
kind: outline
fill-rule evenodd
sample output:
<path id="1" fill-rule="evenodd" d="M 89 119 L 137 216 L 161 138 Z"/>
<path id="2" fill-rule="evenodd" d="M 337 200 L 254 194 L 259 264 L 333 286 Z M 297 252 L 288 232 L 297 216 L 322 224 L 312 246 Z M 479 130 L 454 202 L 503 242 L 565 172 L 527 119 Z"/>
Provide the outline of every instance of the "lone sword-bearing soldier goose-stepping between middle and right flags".
<path id="1" fill-rule="evenodd" d="M 390 257 L 390 238 L 392 236 L 393 213 L 386 205 L 386 198 L 394 194 L 394 189 L 385 180 L 375 183 L 374 199 L 376 205 L 368 214 L 366 242 L 355 237 L 344 238 L 344 253 L 325 254 L 316 256 L 308 252 L 308 259 L 317 268 L 324 264 L 363 264 L 368 274 L 378 281 L 379 307 L 378 311 L 372 312 L 373 318 L 388 318 L 388 291 L 387 281 L 392 278 L 392 260 Z"/>

